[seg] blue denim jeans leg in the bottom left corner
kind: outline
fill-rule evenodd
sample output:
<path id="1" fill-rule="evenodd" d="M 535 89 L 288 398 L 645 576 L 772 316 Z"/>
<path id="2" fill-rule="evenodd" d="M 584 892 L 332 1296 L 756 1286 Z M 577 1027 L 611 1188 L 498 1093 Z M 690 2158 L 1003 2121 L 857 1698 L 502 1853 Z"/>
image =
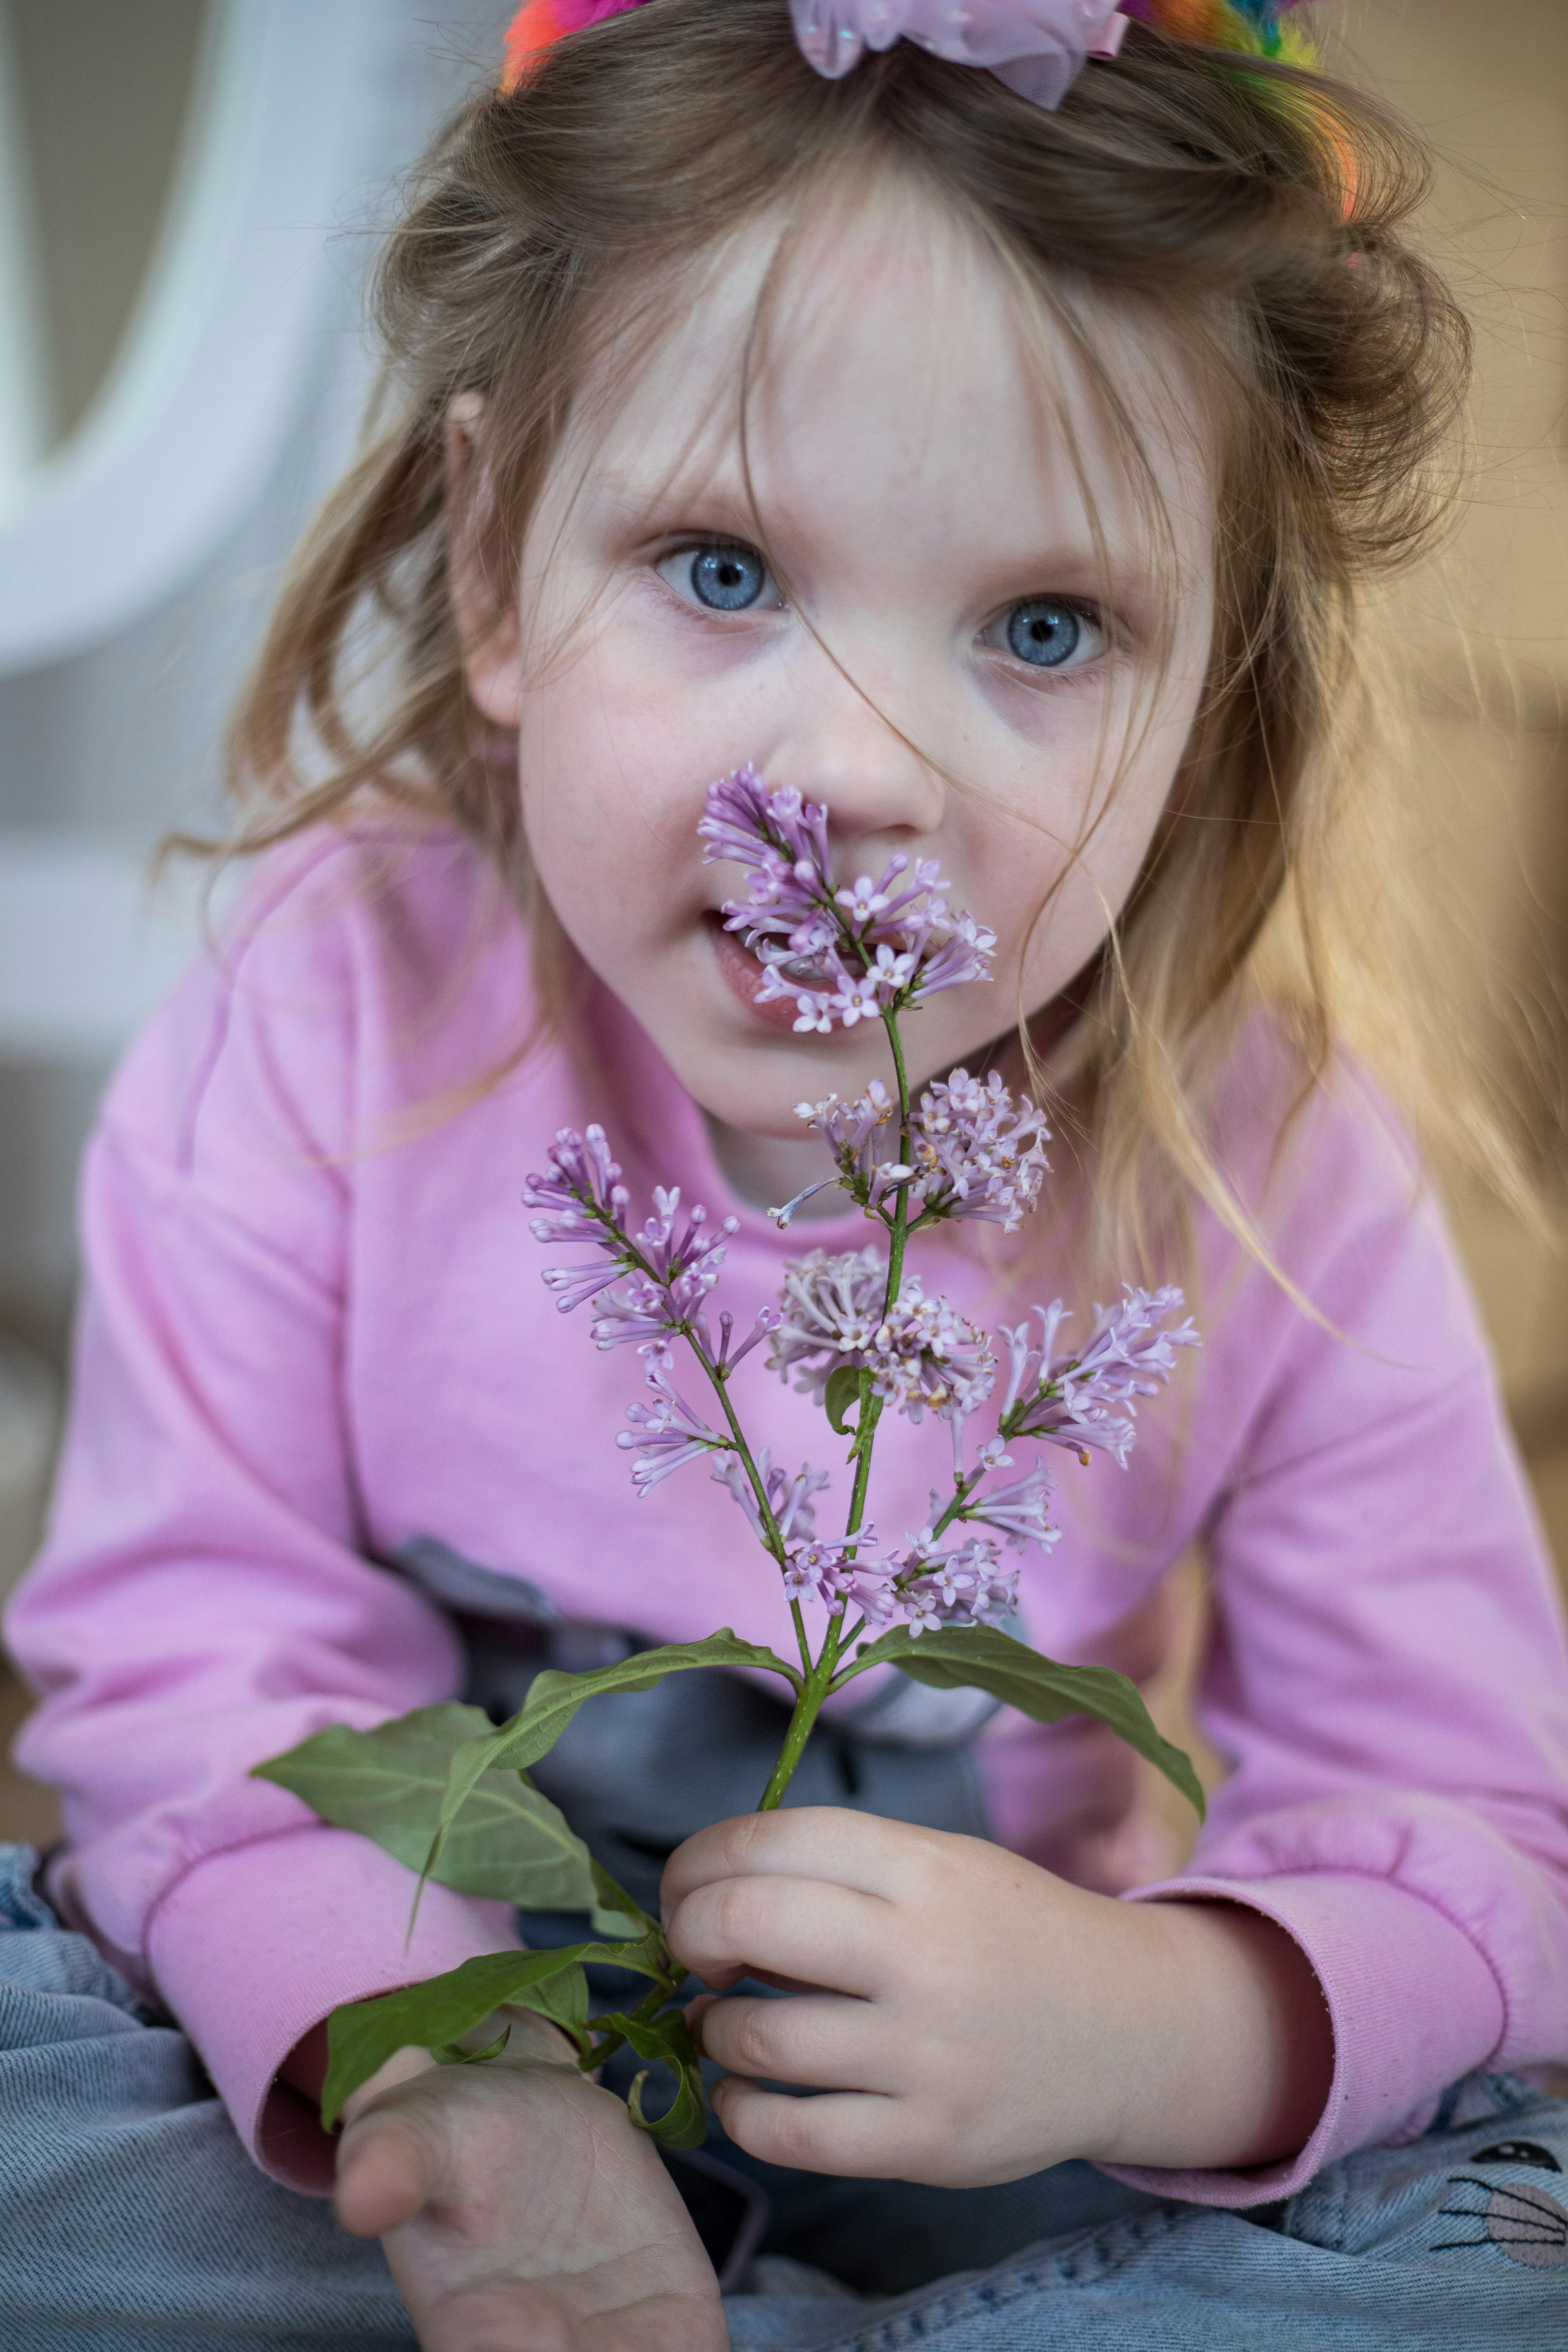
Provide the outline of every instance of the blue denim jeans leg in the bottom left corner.
<path id="1" fill-rule="evenodd" d="M 256 2171 L 158 2025 L 0 1846 L 5 2352 L 414 2352 L 381 2246 Z"/>

